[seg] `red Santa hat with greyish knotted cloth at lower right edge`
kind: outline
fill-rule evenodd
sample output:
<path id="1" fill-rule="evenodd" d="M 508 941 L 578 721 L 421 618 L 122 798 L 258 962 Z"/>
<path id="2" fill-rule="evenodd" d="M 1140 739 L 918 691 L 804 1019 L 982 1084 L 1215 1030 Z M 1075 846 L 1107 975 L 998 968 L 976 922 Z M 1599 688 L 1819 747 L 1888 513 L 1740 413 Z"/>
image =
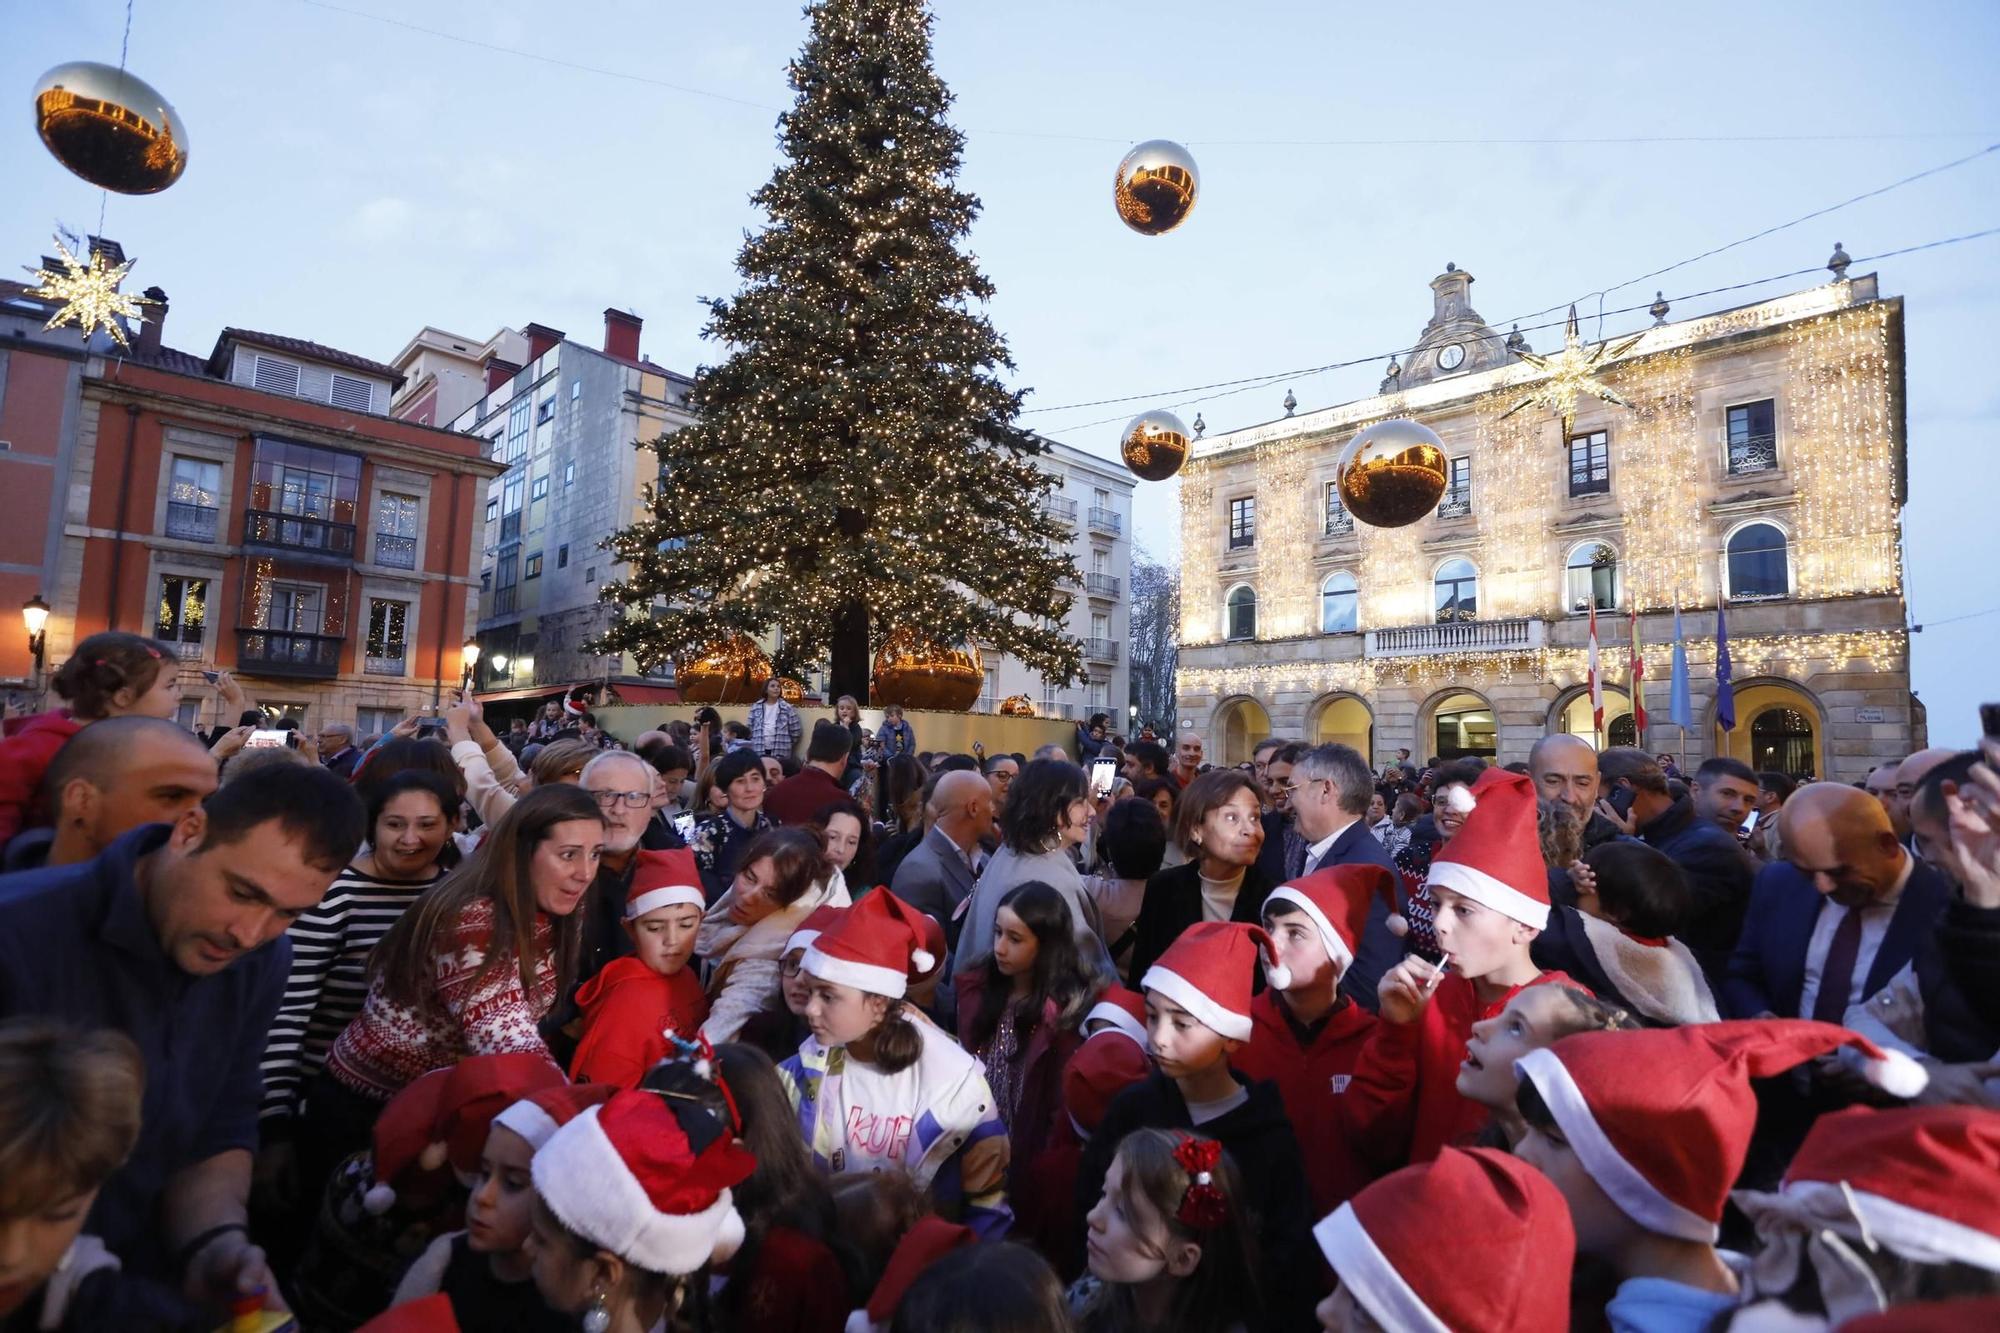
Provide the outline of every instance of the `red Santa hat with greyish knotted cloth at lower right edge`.
<path id="1" fill-rule="evenodd" d="M 1822 1115 L 1778 1193 L 1736 1191 L 1762 1241 L 1752 1295 L 1784 1295 L 1810 1263 L 1828 1321 L 1846 1327 L 1884 1307 L 1866 1251 L 2000 1273 L 1994 1181 L 2000 1113 L 1948 1105 Z"/>

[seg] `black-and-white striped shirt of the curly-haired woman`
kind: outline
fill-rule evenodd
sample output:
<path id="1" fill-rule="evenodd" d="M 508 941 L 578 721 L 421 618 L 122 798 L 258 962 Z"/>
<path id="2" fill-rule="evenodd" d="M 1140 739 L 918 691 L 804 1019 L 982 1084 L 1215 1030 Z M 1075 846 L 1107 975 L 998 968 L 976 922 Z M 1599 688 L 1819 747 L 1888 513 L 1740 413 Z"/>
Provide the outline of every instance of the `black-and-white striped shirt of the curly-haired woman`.
<path id="1" fill-rule="evenodd" d="M 260 1119 L 298 1115 L 326 1051 L 368 999 L 368 953 L 442 877 L 380 879 L 350 865 L 320 905 L 292 923 L 292 975 L 264 1047 Z"/>

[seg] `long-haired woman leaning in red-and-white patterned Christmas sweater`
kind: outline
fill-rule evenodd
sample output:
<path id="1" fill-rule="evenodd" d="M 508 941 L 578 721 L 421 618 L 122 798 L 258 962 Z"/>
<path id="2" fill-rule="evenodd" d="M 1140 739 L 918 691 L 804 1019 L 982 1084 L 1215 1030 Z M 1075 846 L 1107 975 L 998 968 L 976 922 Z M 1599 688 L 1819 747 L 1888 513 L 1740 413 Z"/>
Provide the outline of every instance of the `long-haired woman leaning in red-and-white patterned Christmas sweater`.
<path id="1" fill-rule="evenodd" d="M 466 1055 L 546 1055 L 536 1025 L 570 989 L 576 909 L 602 851 L 604 815 L 584 789 L 516 801 L 368 959 L 368 999 L 312 1085 L 302 1143 L 338 1161 L 416 1077 Z"/>

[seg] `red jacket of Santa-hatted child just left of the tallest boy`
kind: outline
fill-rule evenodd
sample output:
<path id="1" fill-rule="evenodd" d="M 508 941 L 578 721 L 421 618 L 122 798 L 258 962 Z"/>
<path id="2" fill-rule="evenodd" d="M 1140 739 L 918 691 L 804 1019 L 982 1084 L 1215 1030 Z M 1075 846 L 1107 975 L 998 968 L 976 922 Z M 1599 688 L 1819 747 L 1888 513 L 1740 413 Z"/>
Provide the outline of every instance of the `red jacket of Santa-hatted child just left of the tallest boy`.
<path id="1" fill-rule="evenodd" d="M 1376 1177 L 1366 1157 L 1346 1135 L 1332 1133 L 1334 1105 L 1346 1097 L 1350 1075 L 1362 1057 L 1376 1017 L 1352 1001 L 1326 1015 L 1326 1025 L 1300 1045 L 1298 1033 L 1280 1011 L 1274 991 L 1250 1001 L 1250 1041 L 1230 1061 L 1246 1079 L 1270 1079 L 1284 1099 L 1284 1113 L 1298 1133 L 1306 1159 L 1306 1187 L 1312 1215 L 1324 1217 L 1360 1193 Z"/>

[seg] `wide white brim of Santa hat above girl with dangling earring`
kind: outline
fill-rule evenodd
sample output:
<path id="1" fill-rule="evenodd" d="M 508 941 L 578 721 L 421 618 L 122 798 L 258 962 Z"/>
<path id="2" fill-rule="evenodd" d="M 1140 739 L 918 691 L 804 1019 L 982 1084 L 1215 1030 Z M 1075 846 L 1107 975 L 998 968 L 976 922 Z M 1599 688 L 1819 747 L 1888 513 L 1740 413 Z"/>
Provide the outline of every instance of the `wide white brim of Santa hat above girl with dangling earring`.
<path id="1" fill-rule="evenodd" d="M 534 1189 L 548 1211 L 646 1273 L 680 1277 L 720 1251 L 734 1253 L 744 1223 L 730 1191 L 716 1191 L 716 1201 L 698 1213 L 662 1213 L 604 1133 L 600 1111 L 590 1107 L 564 1127 L 568 1133 L 536 1149 Z"/>

